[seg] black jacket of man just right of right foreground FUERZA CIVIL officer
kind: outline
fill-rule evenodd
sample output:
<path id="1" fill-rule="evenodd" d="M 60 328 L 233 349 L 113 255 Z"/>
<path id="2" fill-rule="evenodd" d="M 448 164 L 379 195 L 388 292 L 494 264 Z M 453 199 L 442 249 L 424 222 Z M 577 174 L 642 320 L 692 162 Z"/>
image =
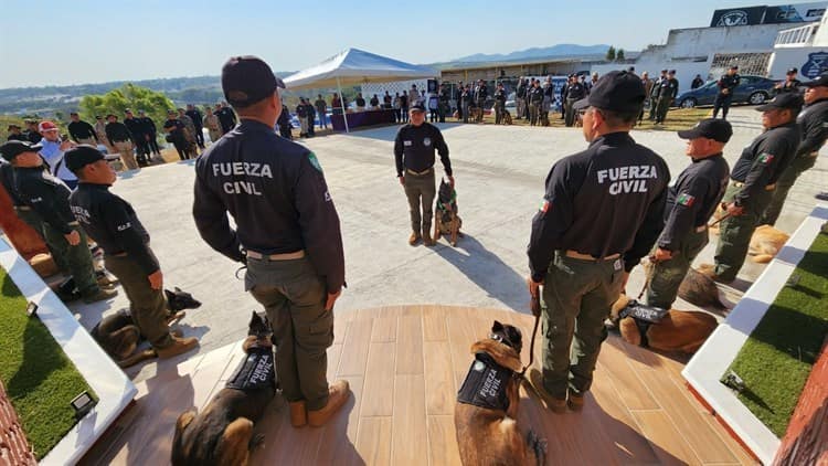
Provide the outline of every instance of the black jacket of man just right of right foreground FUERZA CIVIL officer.
<path id="1" fill-rule="evenodd" d="M 705 225 L 728 188 L 730 168 L 721 153 L 693 160 L 667 190 L 665 230 L 658 247 L 677 251 L 690 230 Z"/>

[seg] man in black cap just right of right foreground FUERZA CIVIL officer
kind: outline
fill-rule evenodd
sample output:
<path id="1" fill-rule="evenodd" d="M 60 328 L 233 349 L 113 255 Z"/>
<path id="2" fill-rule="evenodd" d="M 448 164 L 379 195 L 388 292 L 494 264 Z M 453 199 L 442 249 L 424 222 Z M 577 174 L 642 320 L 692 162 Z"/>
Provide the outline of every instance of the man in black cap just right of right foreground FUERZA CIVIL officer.
<path id="1" fill-rule="evenodd" d="M 672 307 L 681 280 L 708 244 L 708 221 L 730 179 L 722 151 L 733 128 L 723 119 L 709 118 L 678 135 L 687 139 L 684 153 L 692 161 L 668 188 L 665 229 L 650 256 L 655 268 L 647 287 L 647 304 L 662 309 Z"/>

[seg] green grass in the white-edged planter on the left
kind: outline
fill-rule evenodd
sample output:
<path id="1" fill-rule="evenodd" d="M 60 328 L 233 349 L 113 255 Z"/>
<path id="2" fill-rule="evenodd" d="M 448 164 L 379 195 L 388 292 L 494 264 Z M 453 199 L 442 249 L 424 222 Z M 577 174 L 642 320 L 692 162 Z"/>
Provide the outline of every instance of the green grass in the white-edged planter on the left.
<path id="1" fill-rule="evenodd" d="M 76 424 L 72 399 L 97 396 L 2 268 L 0 282 L 0 380 L 40 459 Z"/>

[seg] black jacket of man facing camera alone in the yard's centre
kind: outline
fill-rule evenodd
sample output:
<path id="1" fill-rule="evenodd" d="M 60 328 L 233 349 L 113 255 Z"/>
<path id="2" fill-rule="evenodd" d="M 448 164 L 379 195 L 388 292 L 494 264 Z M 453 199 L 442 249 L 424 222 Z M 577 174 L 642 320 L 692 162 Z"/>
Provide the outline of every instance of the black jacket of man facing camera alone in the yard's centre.
<path id="1" fill-rule="evenodd" d="M 434 167 L 434 151 L 437 150 L 446 174 L 452 176 L 452 161 L 448 159 L 448 146 L 443 134 L 434 125 L 423 123 L 420 126 L 405 125 L 396 131 L 394 139 L 394 159 L 396 176 L 402 177 L 405 169 L 422 172 Z"/>

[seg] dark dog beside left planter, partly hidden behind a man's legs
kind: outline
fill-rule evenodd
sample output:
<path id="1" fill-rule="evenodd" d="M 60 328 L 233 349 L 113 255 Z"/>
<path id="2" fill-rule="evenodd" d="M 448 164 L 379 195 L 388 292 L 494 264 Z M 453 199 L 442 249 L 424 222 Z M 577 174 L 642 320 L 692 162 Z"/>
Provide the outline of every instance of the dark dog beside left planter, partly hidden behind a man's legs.
<path id="1" fill-rule="evenodd" d="M 164 289 L 163 293 L 167 296 L 167 325 L 181 320 L 187 315 L 184 309 L 195 309 L 201 306 L 201 301 L 179 287 L 176 287 L 174 292 Z M 112 316 L 104 317 L 95 325 L 91 335 L 121 368 L 128 368 L 158 356 L 152 348 L 135 352 L 145 338 L 127 309 L 120 309 Z"/>

